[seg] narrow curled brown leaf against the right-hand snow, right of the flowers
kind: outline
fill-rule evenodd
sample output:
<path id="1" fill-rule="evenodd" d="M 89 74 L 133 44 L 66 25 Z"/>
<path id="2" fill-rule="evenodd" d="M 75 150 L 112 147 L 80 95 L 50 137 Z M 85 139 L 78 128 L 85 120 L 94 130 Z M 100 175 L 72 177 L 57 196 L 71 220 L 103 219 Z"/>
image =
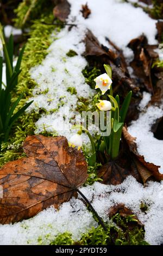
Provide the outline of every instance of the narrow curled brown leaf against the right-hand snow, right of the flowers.
<path id="1" fill-rule="evenodd" d="M 137 145 L 135 142 L 135 137 L 132 137 L 127 131 L 126 127 L 122 129 L 123 138 L 129 146 L 129 150 L 133 153 L 133 163 L 135 168 L 140 173 L 143 182 L 145 183 L 150 176 L 154 176 L 156 180 L 162 180 L 163 174 L 159 173 L 159 167 L 155 166 L 153 163 L 148 163 L 145 161 L 144 156 L 141 156 L 137 151 Z M 135 159 L 135 160 L 134 160 Z"/>

